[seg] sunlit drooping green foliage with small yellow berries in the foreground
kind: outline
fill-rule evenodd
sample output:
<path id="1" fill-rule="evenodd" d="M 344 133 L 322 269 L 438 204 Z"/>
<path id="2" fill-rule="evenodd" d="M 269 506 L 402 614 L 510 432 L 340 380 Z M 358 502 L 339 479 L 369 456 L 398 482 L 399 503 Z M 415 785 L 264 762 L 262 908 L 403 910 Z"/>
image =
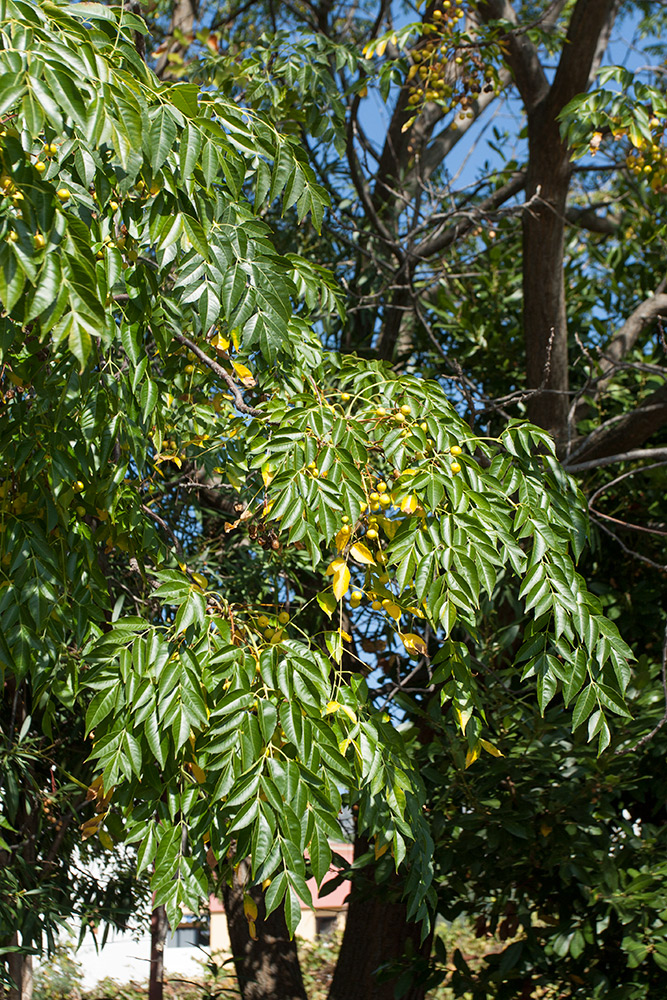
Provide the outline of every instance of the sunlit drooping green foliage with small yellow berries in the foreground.
<path id="1" fill-rule="evenodd" d="M 589 47 L 613 11 L 603 13 Z M 480 14 L 492 17 L 490 7 Z M 424 30 L 437 33 L 438 20 L 429 8 Z M 478 61 L 482 29 L 470 43 Z M 626 713 L 629 676 L 627 646 L 574 570 L 582 498 L 549 438 L 504 418 L 479 435 L 436 383 L 323 351 L 313 332 L 367 353 L 369 305 L 381 301 L 384 358 L 407 358 L 432 334 L 428 299 L 414 294 L 419 262 L 440 259 L 466 227 L 436 213 L 431 243 L 406 257 L 395 185 L 422 198 L 410 143 L 429 114 L 420 141 L 442 119 L 438 92 L 422 108 L 407 57 L 392 49 L 380 83 L 389 92 L 402 70 L 405 82 L 369 193 L 354 141 L 365 70 L 353 85 L 346 149 L 363 213 L 352 221 L 371 255 L 357 260 L 358 318 L 343 326 L 340 292 L 320 266 L 336 258 L 318 235 L 328 199 L 316 171 L 328 180 L 333 154 L 323 143 L 324 160 L 309 163 L 303 138 L 333 141 L 338 129 L 340 150 L 332 60 L 355 72 L 361 53 L 323 31 L 281 62 L 273 48 L 284 38 L 259 39 L 249 65 L 202 67 L 200 89 L 152 76 L 136 44 L 144 25 L 127 12 L 8 4 L 6 31 L 3 453 L 18 456 L 5 477 L 4 551 L 16 553 L 2 606 L 8 675 L 45 704 L 39 669 L 68 670 L 82 701 L 95 692 L 86 725 L 102 798 L 117 787 L 93 826 L 140 845 L 139 867 L 154 867 L 156 903 L 172 923 L 181 903 L 206 894 L 212 866 L 231 878 L 250 857 L 247 887 L 264 883 L 267 912 L 284 903 L 292 931 L 306 874 L 328 870 L 341 787 L 380 866 L 399 872 L 406 919 L 428 919 L 424 785 L 357 671 L 348 623 L 386 632 L 388 676 L 441 647 L 429 684 L 458 713 L 471 760 L 485 745 L 494 752 L 470 646 L 499 575 L 522 584 L 534 618 L 524 674 L 537 676 L 542 709 L 557 690 L 576 698 L 575 721 L 594 712 L 604 748 L 606 713 Z M 498 58 L 512 51 L 506 31 L 491 23 Z M 454 34 L 443 44 L 469 43 Z M 427 75 L 429 45 L 424 35 L 416 46 Z M 507 71 L 489 69 L 502 82 Z M 267 79 L 277 81 L 269 102 Z M 576 92 L 570 82 L 567 100 Z M 523 183 L 495 171 L 473 222 Z M 345 238 L 336 218 L 327 216 L 334 249 Z M 528 387 L 544 395 L 534 379 Z M 560 425 L 543 423 L 560 441 Z M 119 617 L 125 599 L 132 618 Z M 276 984 L 267 989 L 275 995 Z"/>

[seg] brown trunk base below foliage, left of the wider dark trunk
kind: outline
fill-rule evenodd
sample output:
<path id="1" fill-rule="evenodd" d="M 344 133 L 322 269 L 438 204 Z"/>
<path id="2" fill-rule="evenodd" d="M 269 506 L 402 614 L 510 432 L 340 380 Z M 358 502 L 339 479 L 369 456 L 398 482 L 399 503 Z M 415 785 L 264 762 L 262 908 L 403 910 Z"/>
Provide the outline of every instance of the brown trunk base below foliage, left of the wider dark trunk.
<path id="1" fill-rule="evenodd" d="M 229 940 L 243 1000 L 307 1000 L 296 941 L 290 941 L 282 907 L 265 916 L 264 893 L 249 894 L 257 904 L 257 940 L 250 937 L 243 910 L 247 862 L 234 873 L 234 884 L 223 887 Z"/>

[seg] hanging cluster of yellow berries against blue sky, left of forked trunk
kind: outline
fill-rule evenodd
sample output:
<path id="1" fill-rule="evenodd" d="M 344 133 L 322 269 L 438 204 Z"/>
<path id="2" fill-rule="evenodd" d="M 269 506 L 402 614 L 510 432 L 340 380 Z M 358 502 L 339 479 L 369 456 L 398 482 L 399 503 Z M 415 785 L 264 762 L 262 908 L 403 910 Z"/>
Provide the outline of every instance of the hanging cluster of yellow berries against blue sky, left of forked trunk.
<path id="1" fill-rule="evenodd" d="M 445 111 L 458 108 L 462 118 L 472 118 L 472 105 L 482 89 L 495 89 L 496 70 L 485 65 L 476 50 L 458 48 L 453 37 L 457 22 L 464 17 L 462 2 L 443 0 L 433 12 L 432 22 L 425 26 L 433 37 L 412 51 L 408 71 L 408 82 L 414 81 L 408 97 L 412 108 L 434 101 Z"/>

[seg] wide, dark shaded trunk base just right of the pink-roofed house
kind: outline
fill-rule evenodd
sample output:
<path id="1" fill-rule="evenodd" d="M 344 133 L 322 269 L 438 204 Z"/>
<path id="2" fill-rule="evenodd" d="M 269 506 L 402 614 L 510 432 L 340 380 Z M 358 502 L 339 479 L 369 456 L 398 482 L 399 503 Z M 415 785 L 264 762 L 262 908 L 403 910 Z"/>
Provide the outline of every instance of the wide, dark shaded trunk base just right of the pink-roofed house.
<path id="1" fill-rule="evenodd" d="M 367 850 L 357 838 L 355 858 Z M 373 867 L 360 871 L 352 883 L 343 944 L 334 972 L 329 1000 L 395 1000 L 394 990 L 406 971 L 425 971 L 433 934 L 421 943 L 421 926 L 407 919 L 398 900 L 398 880 L 378 886 Z M 385 974 L 376 976 L 378 970 Z M 402 1000 L 424 1000 L 419 979 L 401 994 Z"/>

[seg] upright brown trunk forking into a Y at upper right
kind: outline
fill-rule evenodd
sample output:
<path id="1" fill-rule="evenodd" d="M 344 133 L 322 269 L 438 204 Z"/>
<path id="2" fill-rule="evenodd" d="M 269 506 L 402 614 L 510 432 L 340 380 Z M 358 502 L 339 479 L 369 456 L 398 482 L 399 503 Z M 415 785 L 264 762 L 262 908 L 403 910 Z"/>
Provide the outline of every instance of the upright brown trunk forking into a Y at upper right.
<path id="1" fill-rule="evenodd" d="M 528 171 L 523 216 L 523 325 L 527 385 L 533 390 L 528 415 L 567 440 L 569 414 L 568 337 L 563 256 L 566 202 L 572 166 L 561 138 L 558 115 L 585 91 L 609 37 L 618 0 L 578 0 L 551 86 L 537 50 L 514 30 L 516 14 L 506 0 L 487 0 L 485 20 L 506 20 L 508 63 L 528 115 Z"/>

